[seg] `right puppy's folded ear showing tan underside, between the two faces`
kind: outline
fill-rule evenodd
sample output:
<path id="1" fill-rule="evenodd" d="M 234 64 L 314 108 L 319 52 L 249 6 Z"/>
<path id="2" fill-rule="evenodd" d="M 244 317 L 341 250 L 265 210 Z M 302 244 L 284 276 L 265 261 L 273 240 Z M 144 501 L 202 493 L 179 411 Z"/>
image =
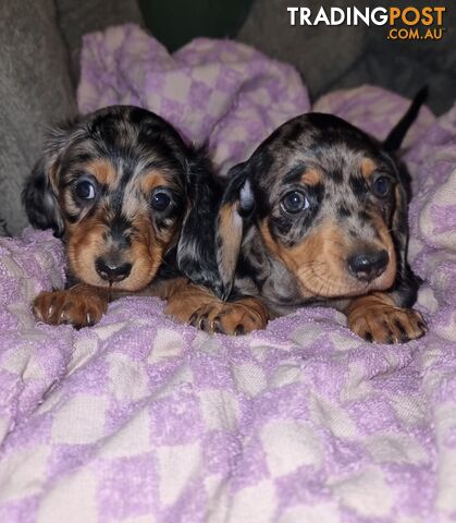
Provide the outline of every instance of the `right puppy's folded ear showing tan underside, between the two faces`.
<path id="1" fill-rule="evenodd" d="M 244 228 L 255 209 L 248 162 L 233 167 L 217 216 L 217 266 L 222 281 L 222 297 L 229 297 L 244 239 Z"/>

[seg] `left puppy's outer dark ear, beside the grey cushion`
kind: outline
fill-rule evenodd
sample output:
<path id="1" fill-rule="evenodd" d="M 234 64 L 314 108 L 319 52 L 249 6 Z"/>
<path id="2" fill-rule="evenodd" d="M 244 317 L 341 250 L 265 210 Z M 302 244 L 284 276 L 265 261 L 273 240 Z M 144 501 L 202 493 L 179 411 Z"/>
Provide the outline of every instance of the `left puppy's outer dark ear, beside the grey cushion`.
<path id="1" fill-rule="evenodd" d="M 45 150 L 26 180 L 22 200 L 28 221 L 37 229 L 52 229 L 56 236 L 64 233 L 64 223 L 57 199 L 59 161 L 66 147 L 75 121 L 51 130 Z"/>

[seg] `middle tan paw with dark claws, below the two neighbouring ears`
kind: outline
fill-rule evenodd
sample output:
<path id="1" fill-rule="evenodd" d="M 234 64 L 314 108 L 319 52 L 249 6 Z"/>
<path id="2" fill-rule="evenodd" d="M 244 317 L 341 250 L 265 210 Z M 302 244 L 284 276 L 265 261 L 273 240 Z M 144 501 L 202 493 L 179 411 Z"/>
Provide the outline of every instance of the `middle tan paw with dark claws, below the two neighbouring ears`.
<path id="1" fill-rule="evenodd" d="M 193 314 L 189 323 L 206 332 L 239 336 L 263 329 L 268 319 L 268 312 L 261 303 L 245 300 L 206 304 Z"/>

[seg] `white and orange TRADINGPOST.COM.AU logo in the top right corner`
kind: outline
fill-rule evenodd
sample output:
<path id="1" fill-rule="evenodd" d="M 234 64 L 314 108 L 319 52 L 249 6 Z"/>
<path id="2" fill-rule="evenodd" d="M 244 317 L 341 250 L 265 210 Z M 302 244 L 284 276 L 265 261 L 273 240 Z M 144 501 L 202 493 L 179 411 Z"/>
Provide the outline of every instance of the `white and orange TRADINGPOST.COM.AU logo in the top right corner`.
<path id="1" fill-rule="evenodd" d="M 286 8 L 291 25 L 386 26 L 392 40 L 440 40 L 444 33 L 444 5 L 392 8 Z"/>

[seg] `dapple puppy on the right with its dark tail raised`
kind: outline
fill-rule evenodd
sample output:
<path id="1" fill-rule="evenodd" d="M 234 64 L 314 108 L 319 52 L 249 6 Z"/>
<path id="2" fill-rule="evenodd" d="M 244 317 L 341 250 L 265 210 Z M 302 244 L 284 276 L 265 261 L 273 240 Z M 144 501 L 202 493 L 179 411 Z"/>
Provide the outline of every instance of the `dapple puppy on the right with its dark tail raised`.
<path id="1" fill-rule="evenodd" d="M 308 113 L 233 168 L 218 222 L 227 303 L 199 307 L 192 323 L 246 332 L 324 305 L 368 341 L 423 336 L 426 321 L 411 308 L 419 279 L 407 263 L 408 174 L 393 155 L 424 97 L 383 144 L 341 118 Z"/>

